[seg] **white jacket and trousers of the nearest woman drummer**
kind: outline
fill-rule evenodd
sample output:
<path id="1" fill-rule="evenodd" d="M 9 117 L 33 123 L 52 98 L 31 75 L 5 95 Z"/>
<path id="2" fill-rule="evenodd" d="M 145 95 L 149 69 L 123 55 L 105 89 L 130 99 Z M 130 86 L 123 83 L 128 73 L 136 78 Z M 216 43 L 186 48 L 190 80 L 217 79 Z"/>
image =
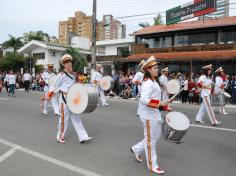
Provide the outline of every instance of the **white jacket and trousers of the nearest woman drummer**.
<path id="1" fill-rule="evenodd" d="M 144 128 L 144 139 L 134 145 L 132 150 L 141 155 L 146 154 L 147 166 L 150 170 L 158 168 L 156 144 L 161 136 L 161 113 L 158 108 L 149 107 L 151 100 L 161 101 L 161 89 L 156 81 L 143 81 L 140 97 L 140 120 Z"/>

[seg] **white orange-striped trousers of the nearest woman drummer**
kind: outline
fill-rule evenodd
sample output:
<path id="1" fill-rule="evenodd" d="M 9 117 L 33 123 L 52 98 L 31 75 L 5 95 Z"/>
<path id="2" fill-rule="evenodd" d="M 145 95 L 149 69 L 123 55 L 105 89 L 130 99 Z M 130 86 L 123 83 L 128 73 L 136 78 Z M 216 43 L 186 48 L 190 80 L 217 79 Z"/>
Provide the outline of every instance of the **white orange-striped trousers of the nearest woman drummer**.
<path id="1" fill-rule="evenodd" d="M 145 152 L 149 170 L 158 168 L 157 164 L 157 142 L 161 137 L 162 123 L 158 120 L 141 119 L 144 129 L 144 139 L 134 145 L 132 150 L 141 155 Z"/>

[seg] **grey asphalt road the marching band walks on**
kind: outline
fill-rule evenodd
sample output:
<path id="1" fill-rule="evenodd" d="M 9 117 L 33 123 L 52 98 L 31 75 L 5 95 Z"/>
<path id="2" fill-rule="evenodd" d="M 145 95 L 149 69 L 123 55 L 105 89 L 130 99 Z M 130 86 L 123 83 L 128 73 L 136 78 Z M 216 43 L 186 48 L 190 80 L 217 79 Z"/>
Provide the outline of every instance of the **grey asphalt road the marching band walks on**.
<path id="1" fill-rule="evenodd" d="M 108 99 L 109 107 L 98 107 L 81 115 L 94 140 L 80 144 L 70 124 L 65 144 L 56 142 L 58 117 L 40 113 L 40 93 L 17 96 L 0 94 L 0 176 L 149 176 L 146 163 L 138 163 L 130 146 L 143 138 L 136 116 L 137 101 Z M 236 108 L 216 113 L 220 127 L 195 124 L 197 105 L 172 104 L 185 113 L 193 126 L 177 145 L 161 139 L 159 164 L 167 176 L 234 176 L 236 173 Z"/>

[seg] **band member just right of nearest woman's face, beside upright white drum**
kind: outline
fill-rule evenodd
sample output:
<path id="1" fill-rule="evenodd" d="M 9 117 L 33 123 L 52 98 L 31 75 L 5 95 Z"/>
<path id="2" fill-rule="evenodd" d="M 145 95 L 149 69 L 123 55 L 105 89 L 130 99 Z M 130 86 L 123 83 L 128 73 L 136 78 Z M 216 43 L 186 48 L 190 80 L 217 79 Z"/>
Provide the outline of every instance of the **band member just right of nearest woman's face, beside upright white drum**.
<path id="1" fill-rule="evenodd" d="M 160 81 L 160 86 L 161 86 L 161 92 L 162 92 L 162 100 L 168 100 L 169 99 L 169 95 L 168 92 L 166 90 L 166 84 L 168 82 L 168 67 L 164 68 L 161 70 L 161 76 L 159 78 Z"/>

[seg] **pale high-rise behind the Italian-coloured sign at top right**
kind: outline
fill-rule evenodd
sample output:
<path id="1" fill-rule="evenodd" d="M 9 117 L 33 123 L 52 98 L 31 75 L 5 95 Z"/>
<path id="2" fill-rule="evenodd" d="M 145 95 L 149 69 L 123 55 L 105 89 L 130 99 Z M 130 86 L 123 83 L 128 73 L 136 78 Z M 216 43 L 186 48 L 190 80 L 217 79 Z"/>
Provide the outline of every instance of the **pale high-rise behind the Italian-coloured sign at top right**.
<path id="1" fill-rule="evenodd" d="M 229 0 L 216 0 L 216 11 L 199 17 L 201 20 L 222 18 L 229 16 Z"/>

